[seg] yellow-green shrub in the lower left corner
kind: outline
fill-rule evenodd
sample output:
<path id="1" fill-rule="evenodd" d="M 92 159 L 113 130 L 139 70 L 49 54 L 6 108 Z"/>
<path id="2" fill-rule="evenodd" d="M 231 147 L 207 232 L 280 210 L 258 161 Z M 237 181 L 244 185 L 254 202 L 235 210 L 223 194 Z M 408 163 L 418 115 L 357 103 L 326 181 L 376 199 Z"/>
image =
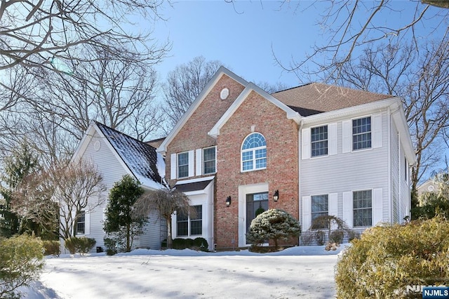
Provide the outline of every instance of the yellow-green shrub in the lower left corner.
<path id="1" fill-rule="evenodd" d="M 0 238 L 0 298 L 20 297 L 18 288 L 39 279 L 43 265 L 43 245 L 39 238 L 26 234 Z"/>

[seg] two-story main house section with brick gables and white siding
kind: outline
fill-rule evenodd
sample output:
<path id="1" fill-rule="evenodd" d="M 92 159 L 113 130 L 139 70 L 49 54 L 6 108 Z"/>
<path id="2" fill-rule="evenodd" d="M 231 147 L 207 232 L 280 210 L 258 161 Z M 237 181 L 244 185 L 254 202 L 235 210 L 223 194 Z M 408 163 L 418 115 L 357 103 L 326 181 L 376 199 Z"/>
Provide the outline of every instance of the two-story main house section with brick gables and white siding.
<path id="1" fill-rule="evenodd" d="M 249 246 L 259 208 L 287 211 L 303 232 L 319 215 L 358 231 L 410 215 L 415 153 L 391 95 L 317 83 L 269 94 L 220 67 L 157 152 L 198 212 L 175 215 L 173 237 L 210 248 Z"/>

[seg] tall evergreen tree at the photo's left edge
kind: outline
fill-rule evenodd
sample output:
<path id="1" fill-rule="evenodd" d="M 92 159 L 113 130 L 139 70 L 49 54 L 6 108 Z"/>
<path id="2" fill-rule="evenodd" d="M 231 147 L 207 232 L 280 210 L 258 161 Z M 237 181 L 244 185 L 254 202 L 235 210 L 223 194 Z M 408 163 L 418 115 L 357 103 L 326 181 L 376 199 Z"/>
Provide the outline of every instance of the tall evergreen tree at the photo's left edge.
<path id="1" fill-rule="evenodd" d="M 39 161 L 26 139 L 4 159 L 1 174 L 0 195 L 0 236 L 11 237 L 20 229 L 20 218 L 11 211 L 13 192 L 25 176 L 39 168 Z"/>

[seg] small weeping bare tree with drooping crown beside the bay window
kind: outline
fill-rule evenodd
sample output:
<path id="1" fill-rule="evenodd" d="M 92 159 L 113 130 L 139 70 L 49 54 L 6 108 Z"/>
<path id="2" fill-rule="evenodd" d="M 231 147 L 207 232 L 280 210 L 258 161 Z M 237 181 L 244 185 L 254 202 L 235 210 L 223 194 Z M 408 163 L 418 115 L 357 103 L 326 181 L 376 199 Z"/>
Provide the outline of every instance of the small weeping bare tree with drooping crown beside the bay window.
<path id="1" fill-rule="evenodd" d="M 190 206 L 190 199 L 182 192 L 166 184 L 163 189 L 152 190 L 140 197 L 134 204 L 135 213 L 147 217 L 149 213 L 159 212 L 159 215 L 167 223 L 167 247 L 173 247 L 173 238 L 171 235 L 172 215 L 190 215 L 196 217 L 196 211 Z"/>

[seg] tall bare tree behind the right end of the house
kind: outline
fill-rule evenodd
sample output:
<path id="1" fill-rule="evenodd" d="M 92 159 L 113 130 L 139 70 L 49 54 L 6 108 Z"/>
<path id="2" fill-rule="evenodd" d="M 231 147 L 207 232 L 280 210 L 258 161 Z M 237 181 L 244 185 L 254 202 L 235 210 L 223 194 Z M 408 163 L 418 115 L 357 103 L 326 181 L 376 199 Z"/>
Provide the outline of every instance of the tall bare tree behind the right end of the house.
<path id="1" fill-rule="evenodd" d="M 358 63 L 325 74 L 338 84 L 403 98 L 417 154 L 413 190 L 442 158 L 441 138 L 449 128 L 449 39 L 428 42 L 420 57 L 413 45 L 368 47 Z"/>

